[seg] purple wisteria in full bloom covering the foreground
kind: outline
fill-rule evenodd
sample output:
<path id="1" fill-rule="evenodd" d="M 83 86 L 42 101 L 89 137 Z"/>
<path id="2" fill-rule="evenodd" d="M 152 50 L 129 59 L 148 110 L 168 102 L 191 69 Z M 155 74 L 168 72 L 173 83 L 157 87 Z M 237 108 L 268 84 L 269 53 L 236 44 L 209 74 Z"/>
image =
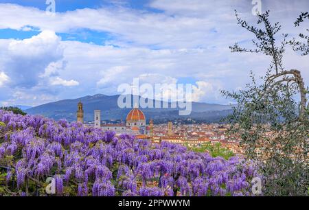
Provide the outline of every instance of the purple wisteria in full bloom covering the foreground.
<path id="1" fill-rule="evenodd" d="M 0 194 L 57 196 L 252 196 L 258 166 L 162 142 L 0 110 Z"/>

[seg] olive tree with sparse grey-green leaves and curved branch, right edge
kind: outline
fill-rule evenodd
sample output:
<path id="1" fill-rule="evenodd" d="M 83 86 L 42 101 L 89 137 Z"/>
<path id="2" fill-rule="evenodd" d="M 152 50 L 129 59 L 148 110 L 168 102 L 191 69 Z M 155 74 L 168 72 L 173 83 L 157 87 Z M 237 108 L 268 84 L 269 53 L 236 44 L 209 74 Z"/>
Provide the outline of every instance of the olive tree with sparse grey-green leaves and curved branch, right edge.
<path id="1" fill-rule="evenodd" d="M 247 24 L 236 14 L 238 24 L 252 32 L 256 49 L 230 47 L 232 51 L 266 54 L 273 58 L 264 78 L 252 82 L 246 89 L 223 95 L 238 102 L 229 121 L 231 132 L 240 134 L 241 145 L 247 157 L 260 161 L 265 178 L 266 196 L 308 196 L 308 88 L 300 71 L 286 71 L 283 55 L 286 47 L 284 34 L 277 47 L 275 34 L 279 23 L 272 25 L 269 12 L 258 15 L 258 24 L 264 29 Z M 297 100 L 300 95 L 300 101 Z"/>

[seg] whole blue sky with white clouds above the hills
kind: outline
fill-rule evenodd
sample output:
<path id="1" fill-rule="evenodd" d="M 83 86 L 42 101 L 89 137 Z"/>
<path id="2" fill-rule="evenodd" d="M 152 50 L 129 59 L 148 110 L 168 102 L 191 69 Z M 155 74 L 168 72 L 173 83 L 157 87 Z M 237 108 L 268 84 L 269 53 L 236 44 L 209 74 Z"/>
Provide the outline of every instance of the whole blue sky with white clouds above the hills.
<path id="1" fill-rule="evenodd" d="M 255 0 L 257 1 L 257 0 Z M 120 84 L 193 85 L 193 100 L 232 101 L 220 90 L 238 91 L 262 76 L 270 58 L 232 54 L 252 48 L 253 34 L 237 25 L 234 10 L 255 25 L 251 0 L 0 0 L 0 106 L 37 106 L 98 93 L 118 94 Z M 261 0 L 273 23 L 289 38 L 308 0 Z M 278 37 L 279 40 L 280 37 Z M 309 83 L 309 57 L 289 47 L 286 69 L 299 69 Z"/>

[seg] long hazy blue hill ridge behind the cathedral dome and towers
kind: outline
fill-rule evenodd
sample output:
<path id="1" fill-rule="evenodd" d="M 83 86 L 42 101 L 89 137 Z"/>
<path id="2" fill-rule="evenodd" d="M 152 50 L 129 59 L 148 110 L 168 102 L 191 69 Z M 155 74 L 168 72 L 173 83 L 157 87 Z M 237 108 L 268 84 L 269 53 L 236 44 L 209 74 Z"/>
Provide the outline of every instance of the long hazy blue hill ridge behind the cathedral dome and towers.
<path id="1" fill-rule="evenodd" d="M 68 121 L 76 120 L 78 102 L 82 102 L 84 108 L 84 120 L 93 121 L 93 111 L 102 111 L 102 120 L 126 119 L 131 108 L 119 108 L 117 100 L 119 95 L 87 95 L 72 100 L 61 100 L 43 104 L 30 109 L 27 113 L 31 115 L 43 115 L 53 119 L 65 118 Z M 133 102 L 133 100 L 132 100 Z M 153 100 L 155 104 L 155 100 Z M 161 102 L 162 103 L 162 102 Z M 133 107 L 133 103 L 131 104 Z M 170 107 L 170 104 L 169 104 Z M 205 119 L 209 122 L 218 121 L 221 117 L 231 113 L 231 106 L 220 104 L 192 103 L 192 113 L 189 116 L 179 116 L 178 108 L 141 108 L 147 119 Z"/>

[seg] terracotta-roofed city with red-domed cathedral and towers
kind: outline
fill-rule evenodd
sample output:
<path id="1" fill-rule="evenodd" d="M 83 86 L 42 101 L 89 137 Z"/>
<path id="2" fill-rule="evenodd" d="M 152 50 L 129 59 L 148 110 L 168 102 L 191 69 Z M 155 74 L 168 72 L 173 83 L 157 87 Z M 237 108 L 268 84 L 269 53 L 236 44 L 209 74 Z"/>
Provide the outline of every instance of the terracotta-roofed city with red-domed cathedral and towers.
<path id="1" fill-rule="evenodd" d="M 77 119 L 83 122 L 84 110 L 82 103 L 78 103 Z M 126 121 L 117 124 L 108 124 L 102 121 L 101 110 L 94 110 L 93 124 L 87 124 L 104 131 L 113 130 L 117 135 L 126 133 L 134 135 L 136 139 L 147 139 L 152 143 L 167 141 L 179 143 L 188 147 L 201 147 L 205 143 L 216 145 L 220 143 L 223 148 L 231 150 L 235 154 L 243 154 L 239 145 L 239 135 L 230 135 L 227 131 L 229 125 L 222 124 L 178 124 L 168 121 L 167 124 L 154 124 L 152 119 L 149 126 L 146 124 L 146 116 L 142 110 L 135 106 L 126 115 Z"/>

